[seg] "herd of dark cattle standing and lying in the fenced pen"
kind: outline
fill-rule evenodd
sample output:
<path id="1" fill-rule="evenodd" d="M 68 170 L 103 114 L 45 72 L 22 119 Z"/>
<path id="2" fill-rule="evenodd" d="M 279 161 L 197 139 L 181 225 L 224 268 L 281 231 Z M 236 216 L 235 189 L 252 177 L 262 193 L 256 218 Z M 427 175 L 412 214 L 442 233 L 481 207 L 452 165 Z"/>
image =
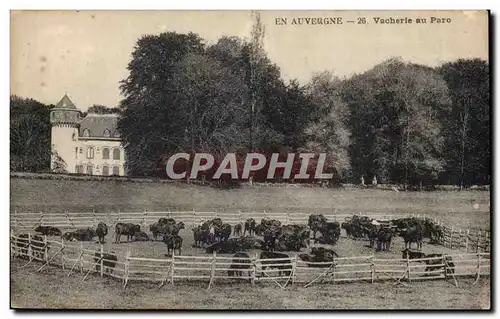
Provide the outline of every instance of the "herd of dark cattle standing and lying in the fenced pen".
<path id="1" fill-rule="evenodd" d="M 156 241 L 160 236 L 167 246 L 167 254 L 177 252 L 182 254 L 183 239 L 179 232 L 185 229 L 183 222 L 176 222 L 172 218 L 160 218 L 158 222 L 149 226 L 152 237 L 141 231 L 140 225 L 133 223 L 117 223 L 115 226 L 115 243 L 120 243 L 122 235 L 127 236 L 127 241 Z M 301 248 L 309 248 L 309 253 L 300 253 L 298 256 L 310 267 L 329 267 L 325 262 L 332 262 L 339 255 L 331 247 L 312 247 L 311 243 L 335 245 L 340 238 L 341 229 L 345 230 L 347 238 L 353 240 L 367 240 L 369 247 L 377 251 L 389 251 L 391 241 L 394 236 L 400 236 L 405 242 L 403 258 L 424 258 L 438 257 L 439 255 L 425 255 L 421 251 L 411 250 L 411 244 L 416 243 L 421 249 L 423 237 L 430 238 L 431 241 L 438 241 L 443 236 L 443 229 L 429 219 L 400 218 L 391 221 L 377 221 L 366 216 L 353 216 L 342 224 L 328 221 L 323 215 L 313 214 L 309 216 L 307 225 L 282 225 L 278 220 L 262 219 L 258 224 L 255 219 L 249 218 L 245 223 L 240 223 L 232 227 L 223 223 L 220 218 L 200 223 L 192 228 L 194 247 L 203 248 L 207 253 L 213 251 L 219 253 L 234 254 L 233 265 L 228 272 L 229 276 L 241 276 L 242 271 L 250 268 L 250 257 L 245 251 L 251 249 L 261 249 L 260 259 L 271 261 L 262 262 L 262 268 L 268 267 L 279 269 L 280 274 L 289 275 L 291 268 L 290 260 L 283 261 L 289 255 L 283 252 L 297 251 Z M 61 230 L 51 226 L 38 226 L 35 231 L 42 235 L 61 236 L 68 241 L 91 241 L 94 237 L 99 238 L 100 243 L 108 234 L 108 227 L 104 223 L 99 223 L 97 228 L 77 229 L 75 231 L 62 233 Z M 317 237 L 318 232 L 321 236 Z M 233 235 L 231 237 L 231 235 Z M 312 238 L 311 238 L 312 235 Z M 262 239 L 255 237 L 259 236 Z M 16 245 L 21 251 L 26 252 L 31 246 L 33 254 L 39 258 L 44 257 L 44 253 L 49 247 L 45 247 L 43 238 L 40 235 L 31 237 L 28 234 L 19 236 Z M 426 271 L 435 270 L 436 264 L 448 265 L 453 269 L 451 259 L 436 263 L 433 260 L 425 261 Z M 116 254 L 106 253 L 101 256 L 96 253 L 94 261 L 103 263 L 108 268 L 116 265 Z M 279 259 L 273 261 L 272 259 Z M 315 264 L 315 263 L 323 264 Z M 433 266 L 434 265 L 434 266 Z M 99 268 L 99 267 L 98 267 Z M 99 269 L 98 269 L 99 270 Z"/>

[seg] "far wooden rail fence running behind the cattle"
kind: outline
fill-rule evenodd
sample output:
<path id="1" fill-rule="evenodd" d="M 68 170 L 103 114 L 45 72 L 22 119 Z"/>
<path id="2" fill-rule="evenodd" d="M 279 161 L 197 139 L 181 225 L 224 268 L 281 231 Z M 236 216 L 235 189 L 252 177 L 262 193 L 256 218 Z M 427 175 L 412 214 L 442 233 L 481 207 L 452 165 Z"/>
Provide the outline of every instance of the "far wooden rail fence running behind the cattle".
<path id="1" fill-rule="evenodd" d="M 303 212 L 258 212 L 258 211 L 237 211 L 230 212 L 197 212 L 197 211 L 153 211 L 147 210 L 143 212 L 112 212 L 112 213 L 96 213 L 95 211 L 88 213 L 20 213 L 14 211 L 11 214 L 11 227 L 16 230 L 32 230 L 36 226 L 53 226 L 61 228 L 86 228 L 97 227 L 98 223 L 104 222 L 108 226 L 114 227 L 117 223 L 135 223 L 139 224 L 142 229 L 147 229 L 152 223 L 158 221 L 159 218 L 174 218 L 176 221 L 182 221 L 192 226 L 197 226 L 203 221 L 213 218 L 221 218 L 224 223 L 231 225 L 243 224 L 248 218 L 254 218 L 259 221 L 263 218 L 279 220 L 283 225 L 290 224 L 307 224 L 311 213 Z M 373 219 L 387 221 L 398 218 L 430 218 L 443 229 L 443 237 L 439 238 L 439 244 L 459 251 L 465 252 L 489 252 L 491 248 L 491 234 L 486 230 L 458 229 L 453 226 L 446 226 L 443 221 L 425 214 L 406 213 L 406 214 L 378 214 L 371 212 L 360 212 L 359 216 L 368 216 Z M 352 214 L 330 213 L 323 214 L 328 220 L 343 222 L 346 219 L 352 218 Z"/>

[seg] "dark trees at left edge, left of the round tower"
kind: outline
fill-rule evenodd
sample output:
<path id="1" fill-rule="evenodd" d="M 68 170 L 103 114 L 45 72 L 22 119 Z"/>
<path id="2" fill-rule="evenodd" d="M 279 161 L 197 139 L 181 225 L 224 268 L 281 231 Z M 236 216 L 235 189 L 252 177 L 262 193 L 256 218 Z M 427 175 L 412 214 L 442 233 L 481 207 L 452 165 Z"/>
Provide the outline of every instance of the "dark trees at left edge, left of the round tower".
<path id="1" fill-rule="evenodd" d="M 37 172 L 50 168 L 50 110 L 36 100 L 10 97 L 10 169 Z"/>

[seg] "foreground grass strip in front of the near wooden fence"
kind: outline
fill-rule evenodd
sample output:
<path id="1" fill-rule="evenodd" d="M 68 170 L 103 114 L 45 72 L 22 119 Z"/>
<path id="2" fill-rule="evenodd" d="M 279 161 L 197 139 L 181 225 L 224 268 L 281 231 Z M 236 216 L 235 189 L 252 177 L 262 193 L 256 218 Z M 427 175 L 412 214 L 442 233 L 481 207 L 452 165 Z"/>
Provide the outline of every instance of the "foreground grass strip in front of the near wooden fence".
<path id="1" fill-rule="evenodd" d="M 415 282 L 409 287 L 387 283 L 317 285 L 308 288 L 206 283 L 158 289 L 134 283 L 122 288 L 113 279 L 66 277 L 58 268 L 34 273 L 29 265 L 11 264 L 11 305 L 14 308 L 70 309 L 488 309 L 490 280 L 461 279 L 460 287 L 445 281 Z"/>

